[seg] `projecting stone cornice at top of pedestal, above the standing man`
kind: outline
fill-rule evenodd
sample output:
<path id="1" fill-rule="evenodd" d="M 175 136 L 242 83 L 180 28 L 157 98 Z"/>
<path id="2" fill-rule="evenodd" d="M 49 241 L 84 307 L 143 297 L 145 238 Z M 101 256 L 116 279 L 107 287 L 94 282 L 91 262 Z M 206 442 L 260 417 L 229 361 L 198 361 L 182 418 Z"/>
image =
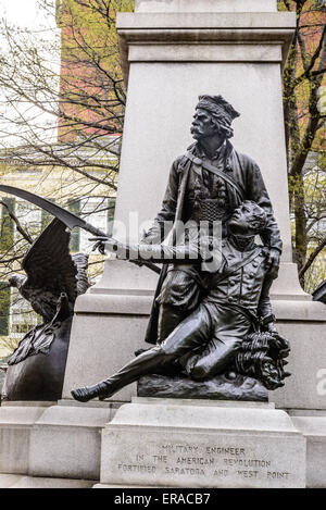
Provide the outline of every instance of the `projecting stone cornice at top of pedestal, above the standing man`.
<path id="1" fill-rule="evenodd" d="M 180 48 L 190 45 L 218 47 L 221 45 L 278 45 L 281 47 L 281 63 L 286 62 L 288 49 L 296 28 L 296 14 L 289 12 L 265 12 L 265 13 L 120 13 L 117 15 L 117 34 L 122 65 L 125 80 L 128 78 L 130 60 L 146 61 L 175 61 L 177 53 L 170 48 L 168 57 L 159 49 L 159 45 L 177 47 L 180 54 L 179 60 L 185 61 Z M 143 46 L 142 53 L 139 51 Z M 129 49 L 137 46 L 138 57 Z M 151 48 L 151 55 L 146 55 L 146 50 Z M 155 51 L 155 48 L 158 51 Z M 131 54 L 131 58 L 130 58 Z M 188 50 L 189 54 L 189 50 Z M 201 57 L 202 55 L 202 57 Z M 205 57 L 204 50 L 199 53 L 198 61 L 211 60 Z M 220 57 L 221 55 L 221 57 Z M 227 61 L 225 52 L 214 57 L 215 61 Z M 192 59 L 193 60 L 193 59 Z M 230 61 L 237 60 L 237 54 L 229 57 Z M 244 61 L 243 58 L 239 59 Z M 256 53 L 248 52 L 247 61 L 264 61 Z M 266 61 L 273 60 L 267 55 Z M 275 61 L 278 59 L 275 58 Z"/>

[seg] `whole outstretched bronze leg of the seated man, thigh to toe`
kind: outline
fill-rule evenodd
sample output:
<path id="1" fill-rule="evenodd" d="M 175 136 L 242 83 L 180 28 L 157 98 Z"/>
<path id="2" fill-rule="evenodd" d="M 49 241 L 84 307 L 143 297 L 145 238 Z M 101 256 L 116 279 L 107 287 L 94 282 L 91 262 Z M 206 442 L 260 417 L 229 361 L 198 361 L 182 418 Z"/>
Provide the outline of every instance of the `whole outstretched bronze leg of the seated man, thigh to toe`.
<path id="1" fill-rule="evenodd" d="M 96 397 L 109 398 L 141 375 L 154 373 L 163 363 L 172 362 L 204 344 L 208 341 L 210 331 L 211 320 L 208 310 L 199 307 L 161 345 L 139 354 L 108 380 L 95 386 L 73 389 L 72 395 L 82 402 Z"/>

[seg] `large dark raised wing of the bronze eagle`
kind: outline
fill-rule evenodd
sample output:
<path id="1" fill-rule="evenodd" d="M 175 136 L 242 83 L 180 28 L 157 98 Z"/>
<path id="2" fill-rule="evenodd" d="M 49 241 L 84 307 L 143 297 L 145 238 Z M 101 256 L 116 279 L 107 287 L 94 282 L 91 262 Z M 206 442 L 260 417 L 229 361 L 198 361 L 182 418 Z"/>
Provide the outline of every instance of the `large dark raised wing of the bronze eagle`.
<path id="1" fill-rule="evenodd" d="M 23 259 L 22 268 L 27 275 L 24 284 L 26 290 L 41 290 L 55 300 L 61 293 L 65 293 L 68 301 L 75 302 L 77 268 L 70 253 L 70 232 L 58 219 L 40 234 Z"/>

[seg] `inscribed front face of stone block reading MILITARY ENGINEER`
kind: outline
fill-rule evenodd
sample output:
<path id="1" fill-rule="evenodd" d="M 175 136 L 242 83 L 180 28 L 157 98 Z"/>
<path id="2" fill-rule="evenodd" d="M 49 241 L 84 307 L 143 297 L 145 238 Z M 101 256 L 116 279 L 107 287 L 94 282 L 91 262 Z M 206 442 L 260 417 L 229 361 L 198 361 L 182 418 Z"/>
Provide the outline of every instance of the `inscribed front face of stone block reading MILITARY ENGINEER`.
<path id="1" fill-rule="evenodd" d="M 141 408 L 148 406 L 140 406 L 145 415 Z M 164 422 L 164 416 L 168 419 L 165 406 L 158 408 Z M 189 414 L 189 407 L 184 409 Z M 208 415 L 205 427 L 196 426 L 196 412 L 192 420 L 185 415 L 184 425 L 178 427 L 145 424 L 139 428 L 130 420 L 126 430 L 125 424 L 114 424 L 113 420 L 103 431 L 101 482 L 175 487 L 304 486 L 304 439 L 296 430 L 246 431 L 241 430 L 241 420 L 238 431 L 227 430 L 221 427 L 221 411 L 227 421 L 234 410 L 213 409 L 211 413 L 212 408 L 201 408 L 201 412 L 203 409 Z M 216 411 L 220 423 L 213 430 Z M 238 411 L 246 414 L 247 410 Z M 259 420 L 262 411 L 285 414 L 261 409 L 251 409 L 250 413 L 255 412 Z M 263 421 L 265 418 L 262 415 Z"/>

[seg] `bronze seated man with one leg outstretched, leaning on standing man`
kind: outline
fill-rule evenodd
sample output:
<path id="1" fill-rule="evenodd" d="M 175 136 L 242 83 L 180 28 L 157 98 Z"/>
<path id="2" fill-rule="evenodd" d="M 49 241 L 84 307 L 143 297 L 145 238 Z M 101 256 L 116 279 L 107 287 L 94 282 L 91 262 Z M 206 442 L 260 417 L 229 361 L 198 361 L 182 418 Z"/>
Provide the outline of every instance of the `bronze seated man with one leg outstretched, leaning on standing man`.
<path id="1" fill-rule="evenodd" d="M 275 339 L 277 356 L 287 356 L 289 345 L 276 332 L 268 297 L 273 276 L 267 249 L 254 242 L 266 221 L 265 211 L 255 202 L 239 206 L 229 222 L 230 234 L 222 242 L 221 266 L 210 273 L 208 290 L 199 307 L 160 345 L 142 352 L 108 380 L 72 390 L 73 397 L 82 402 L 109 398 L 140 376 L 162 372 L 175 362 L 195 381 L 211 378 L 235 364 L 241 345 L 258 327 Z M 152 260 L 158 261 L 159 248 L 147 246 L 148 252 L 152 250 Z M 281 385 L 279 380 L 275 381 L 274 388 Z"/>

